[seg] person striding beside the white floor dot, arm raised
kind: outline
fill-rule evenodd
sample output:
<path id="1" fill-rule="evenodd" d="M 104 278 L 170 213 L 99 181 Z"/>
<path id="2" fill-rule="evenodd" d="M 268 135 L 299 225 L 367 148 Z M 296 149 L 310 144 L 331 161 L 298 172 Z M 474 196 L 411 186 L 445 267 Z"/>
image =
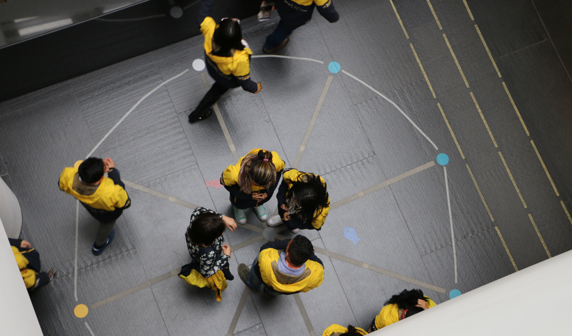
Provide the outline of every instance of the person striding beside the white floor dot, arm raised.
<path id="1" fill-rule="evenodd" d="M 259 93 L 260 83 L 250 77 L 252 50 L 243 39 L 240 20 L 224 18 L 219 23 L 209 17 L 214 0 L 202 0 L 198 24 L 205 37 L 206 70 L 215 83 L 189 114 L 189 122 L 204 120 L 213 113 L 212 107 L 228 89 L 242 86 L 243 90 Z"/>

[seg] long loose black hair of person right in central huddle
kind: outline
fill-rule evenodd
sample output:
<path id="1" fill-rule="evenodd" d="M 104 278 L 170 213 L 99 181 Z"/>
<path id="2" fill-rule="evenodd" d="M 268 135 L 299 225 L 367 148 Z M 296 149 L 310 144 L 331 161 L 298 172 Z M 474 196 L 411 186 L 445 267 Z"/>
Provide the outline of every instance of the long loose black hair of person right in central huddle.
<path id="1" fill-rule="evenodd" d="M 318 175 L 302 173 L 297 181 L 288 182 L 292 183 L 292 187 L 287 195 L 293 195 L 300 203 L 301 209 L 297 215 L 304 222 L 315 219 L 329 206 L 327 185 Z"/>

